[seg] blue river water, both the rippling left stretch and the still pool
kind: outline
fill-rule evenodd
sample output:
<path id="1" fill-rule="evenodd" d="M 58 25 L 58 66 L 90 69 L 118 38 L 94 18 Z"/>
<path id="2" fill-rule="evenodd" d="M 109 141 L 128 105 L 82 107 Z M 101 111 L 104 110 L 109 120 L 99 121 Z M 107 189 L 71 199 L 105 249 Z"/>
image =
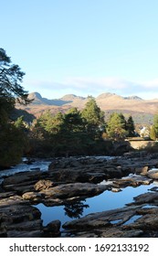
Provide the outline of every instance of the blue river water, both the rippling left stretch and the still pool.
<path id="1" fill-rule="evenodd" d="M 5 176 L 10 176 L 19 172 L 34 171 L 40 169 L 42 172 L 47 172 L 47 167 L 51 163 L 50 160 L 36 159 L 29 164 L 26 164 L 24 158 L 22 163 L 13 166 L 10 169 L 0 172 L 0 182 L 3 181 Z M 139 187 L 125 187 L 120 192 L 105 191 L 96 197 L 89 197 L 85 200 L 78 201 L 71 205 L 63 205 L 58 207 L 46 207 L 43 204 L 34 206 L 41 212 L 41 219 L 43 219 L 43 225 L 46 226 L 52 220 L 59 219 L 61 224 L 72 219 L 78 219 L 84 217 L 90 213 L 101 212 L 104 210 L 121 208 L 126 204 L 133 201 L 133 197 L 139 196 L 147 192 L 152 187 L 156 187 L 158 184 L 153 182 L 151 185 L 142 185 Z"/>

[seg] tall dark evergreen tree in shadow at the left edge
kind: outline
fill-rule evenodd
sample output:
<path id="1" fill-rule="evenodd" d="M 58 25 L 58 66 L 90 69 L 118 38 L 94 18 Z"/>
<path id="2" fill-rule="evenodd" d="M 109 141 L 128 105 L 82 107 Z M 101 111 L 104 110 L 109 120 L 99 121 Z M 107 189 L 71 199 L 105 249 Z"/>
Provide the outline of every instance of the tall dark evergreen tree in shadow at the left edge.
<path id="1" fill-rule="evenodd" d="M 28 103 L 27 91 L 21 86 L 24 72 L 12 64 L 5 50 L 0 48 L 0 166 L 15 165 L 25 148 L 23 134 L 10 123 L 10 112 L 16 101 Z"/>

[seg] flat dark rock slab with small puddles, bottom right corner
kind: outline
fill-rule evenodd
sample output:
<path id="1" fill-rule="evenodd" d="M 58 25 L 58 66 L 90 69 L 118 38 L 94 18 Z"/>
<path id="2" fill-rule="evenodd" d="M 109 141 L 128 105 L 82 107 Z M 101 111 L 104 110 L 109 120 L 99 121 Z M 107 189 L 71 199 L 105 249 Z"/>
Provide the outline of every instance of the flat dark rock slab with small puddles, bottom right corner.
<path id="1" fill-rule="evenodd" d="M 134 197 L 134 202 L 124 208 L 66 222 L 63 228 L 66 237 L 158 237 L 158 192 Z"/>

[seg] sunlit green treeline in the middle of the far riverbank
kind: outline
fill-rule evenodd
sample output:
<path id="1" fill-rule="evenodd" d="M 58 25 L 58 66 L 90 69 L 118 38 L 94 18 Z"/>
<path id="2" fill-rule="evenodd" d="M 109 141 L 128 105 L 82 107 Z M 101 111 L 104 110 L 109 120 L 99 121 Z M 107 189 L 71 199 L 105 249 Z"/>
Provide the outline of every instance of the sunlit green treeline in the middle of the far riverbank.
<path id="1" fill-rule="evenodd" d="M 105 123 L 96 101 L 90 97 L 80 112 L 72 108 L 66 113 L 42 114 L 29 132 L 30 154 L 58 155 L 104 155 L 111 153 L 111 140 L 123 140 L 134 136 L 132 116 L 126 121 L 120 113 L 112 113 Z"/>

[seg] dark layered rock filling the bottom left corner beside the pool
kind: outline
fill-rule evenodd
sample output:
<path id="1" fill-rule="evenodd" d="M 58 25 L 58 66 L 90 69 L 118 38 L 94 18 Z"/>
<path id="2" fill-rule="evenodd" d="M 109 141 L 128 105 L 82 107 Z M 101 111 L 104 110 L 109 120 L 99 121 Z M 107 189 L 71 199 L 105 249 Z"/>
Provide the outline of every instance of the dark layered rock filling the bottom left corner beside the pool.
<path id="1" fill-rule="evenodd" d="M 0 199 L 0 237 L 42 237 L 42 220 L 37 208 L 22 197 Z"/>

